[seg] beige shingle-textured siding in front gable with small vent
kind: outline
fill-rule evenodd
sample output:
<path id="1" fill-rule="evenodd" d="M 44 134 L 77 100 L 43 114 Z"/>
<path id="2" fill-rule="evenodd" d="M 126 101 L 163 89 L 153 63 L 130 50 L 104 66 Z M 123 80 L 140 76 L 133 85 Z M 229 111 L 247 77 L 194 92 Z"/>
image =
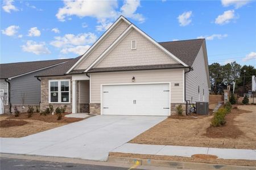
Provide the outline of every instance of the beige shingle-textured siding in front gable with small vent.
<path id="1" fill-rule="evenodd" d="M 131 41 L 136 41 L 136 49 L 131 49 Z M 177 63 L 163 50 L 159 49 L 150 40 L 133 29 L 115 47 L 104 56 L 96 68 L 99 67 L 122 67 L 138 65 L 158 65 Z"/>

